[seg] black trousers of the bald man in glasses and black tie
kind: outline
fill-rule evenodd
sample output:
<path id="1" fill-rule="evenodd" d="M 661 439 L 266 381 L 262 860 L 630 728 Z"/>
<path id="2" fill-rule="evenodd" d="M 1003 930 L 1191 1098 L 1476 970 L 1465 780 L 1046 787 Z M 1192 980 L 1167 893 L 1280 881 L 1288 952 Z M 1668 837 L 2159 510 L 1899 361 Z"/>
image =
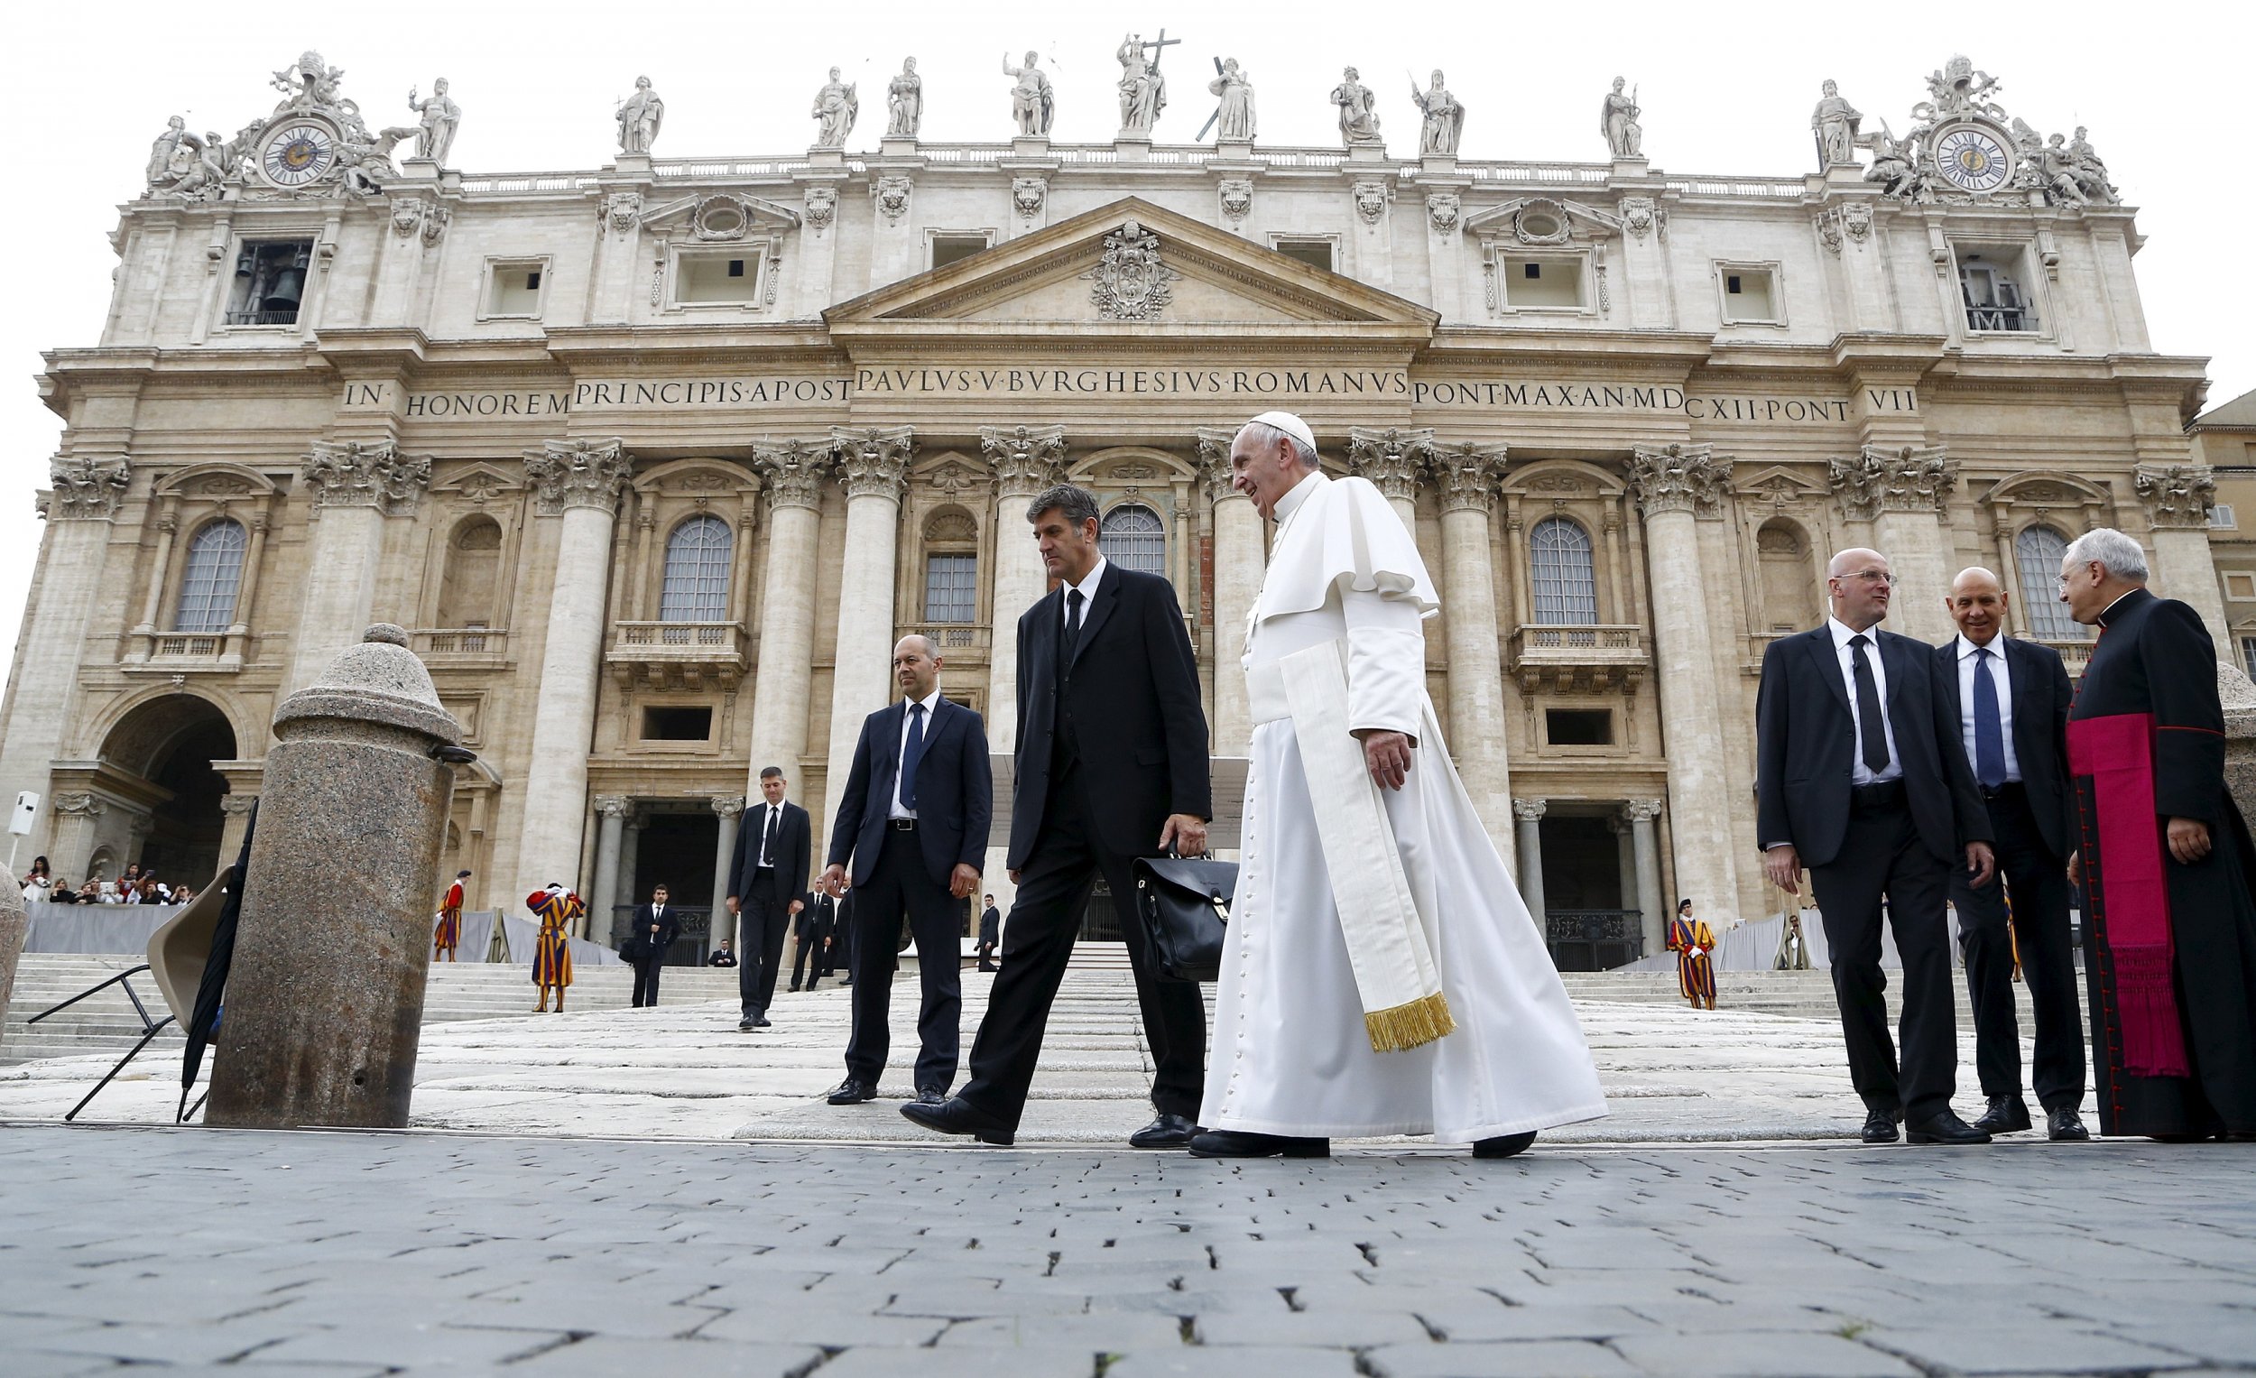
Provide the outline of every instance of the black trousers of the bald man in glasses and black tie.
<path id="1" fill-rule="evenodd" d="M 1942 920 L 1949 873 L 1951 864 L 1920 841 L 1902 794 L 1895 803 L 1852 805 L 1841 855 L 1809 868 L 1832 947 L 1850 1085 L 1868 1110 L 1902 1110 L 1913 1123 L 1949 1110 L 1958 1085 L 1958 1010 Z M 1882 895 L 1904 959 L 1902 1074 L 1888 1040 L 1888 977 L 1879 970 Z"/>

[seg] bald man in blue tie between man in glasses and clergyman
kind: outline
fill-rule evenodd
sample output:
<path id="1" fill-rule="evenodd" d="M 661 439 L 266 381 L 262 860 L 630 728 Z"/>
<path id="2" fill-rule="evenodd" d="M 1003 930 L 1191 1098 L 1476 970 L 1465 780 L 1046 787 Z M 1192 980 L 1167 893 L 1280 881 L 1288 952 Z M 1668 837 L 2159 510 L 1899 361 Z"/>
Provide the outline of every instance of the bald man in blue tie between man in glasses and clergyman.
<path id="1" fill-rule="evenodd" d="M 2089 1139 L 2085 1026 L 2076 1004 L 2069 936 L 2069 670 L 2060 652 L 2001 636 L 2008 595 L 1997 575 L 1958 571 L 1945 600 L 1958 636 L 1936 647 L 1958 710 L 1958 735 L 1997 834 L 1999 880 L 1976 886 L 1951 871 L 1951 904 L 1965 943 L 1974 999 L 1974 1069 L 1990 1110 L 1974 1121 L 1988 1134 L 2030 1128 L 2021 1101 L 2021 1028 L 2012 1010 L 2012 961 L 2021 954 L 2028 1004 L 2037 1017 L 2030 1085 L 2051 1139 Z M 2012 911 L 2006 891 L 2012 891 Z M 2008 931 L 2006 922 L 2012 920 Z"/>

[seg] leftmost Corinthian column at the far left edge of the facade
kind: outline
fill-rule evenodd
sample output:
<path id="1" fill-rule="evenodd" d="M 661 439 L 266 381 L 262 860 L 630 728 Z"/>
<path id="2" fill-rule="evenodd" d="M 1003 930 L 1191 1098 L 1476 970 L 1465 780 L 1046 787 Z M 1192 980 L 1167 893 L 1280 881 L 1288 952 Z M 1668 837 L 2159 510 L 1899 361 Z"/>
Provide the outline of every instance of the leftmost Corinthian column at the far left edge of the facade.
<path id="1" fill-rule="evenodd" d="M 50 792 L 47 774 L 63 749 L 63 724 L 77 701 L 79 656 L 95 616 L 95 598 L 104 586 L 102 555 L 111 544 L 111 523 L 131 480 L 133 467 L 126 465 L 124 456 L 99 460 L 56 456 L 50 476 L 54 487 L 38 498 L 47 535 L 38 544 L 38 573 L 32 580 L 32 602 L 25 609 L 23 636 L 18 638 L 18 645 L 32 647 L 32 654 L 16 656 L 7 719 L 0 722 L 5 728 L 0 731 L 0 789 L 7 792 L 7 798 L 16 798 L 20 789 Z M 86 857 L 65 862 L 54 841 L 61 837 L 59 803 L 47 801 L 47 807 L 41 810 L 23 862 L 29 864 L 34 855 L 52 853 L 56 875 L 79 877 L 86 875 Z M 90 853 L 92 841 L 86 846 Z M 79 866 L 79 871 L 63 871 L 65 864 Z"/>

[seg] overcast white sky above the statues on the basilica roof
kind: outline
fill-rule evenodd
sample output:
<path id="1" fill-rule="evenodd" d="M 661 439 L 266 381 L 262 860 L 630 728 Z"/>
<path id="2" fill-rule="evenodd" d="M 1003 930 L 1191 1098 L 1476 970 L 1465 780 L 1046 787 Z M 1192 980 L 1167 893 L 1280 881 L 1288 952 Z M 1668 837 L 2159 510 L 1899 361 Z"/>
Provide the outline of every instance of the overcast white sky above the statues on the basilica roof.
<path id="1" fill-rule="evenodd" d="M 41 350 L 92 345 L 115 255 L 106 235 L 135 196 L 167 115 L 237 131 L 280 99 L 275 68 L 316 47 L 372 126 L 408 124 L 408 86 L 451 81 L 465 171 L 593 169 L 614 149 L 614 101 L 650 74 L 666 97 L 659 156 L 794 153 L 823 70 L 862 83 L 848 149 L 875 147 L 884 81 L 916 56 L 927 140 L 1011 135 L 1002 54 L 1036 50 L 1058 88 L 1060 142 L 1119 124 L 1112 50 L 1096 7 L 977 5 L 147 5 L 16 0 L 0 18 L 16 135 L 5 217 L 9 309 L 0 313 L 0 645 L 16 643 L 61 422 L 36 395 Z M 2229 14 L 2242 20 L 2229 20 Z M 1997 99 L 2044 133 L 2091 126 L 2141 207 L 2134 266 L 2154 347 L 2209 356 L 2215 406 L 2256 388 L 2256 162 L 2245 95 L 2247 7 L 2145 2 L 2039 7 L 1737 5 L 1153 5 L 1171 106 L 1160 142 L 1189 142 L 1214 101 L 1214 56 L 1254 83 L 1263 144 L 1336 147 L 1327 92 L 1354 63 L 1381 97 L 1390 151 L 1415 156 L 1408 72 L 1439 65 L 1466 106 L 1466 158 L 1604 160 L 1600 97 L 1640 88 L 1656 171 L 1794 176 L 1814 165 L 1809 108 L 1832 77 L 1872 126 L 1911 124 L 1922 74 L 1954 52 L 2001 79 Z"/>

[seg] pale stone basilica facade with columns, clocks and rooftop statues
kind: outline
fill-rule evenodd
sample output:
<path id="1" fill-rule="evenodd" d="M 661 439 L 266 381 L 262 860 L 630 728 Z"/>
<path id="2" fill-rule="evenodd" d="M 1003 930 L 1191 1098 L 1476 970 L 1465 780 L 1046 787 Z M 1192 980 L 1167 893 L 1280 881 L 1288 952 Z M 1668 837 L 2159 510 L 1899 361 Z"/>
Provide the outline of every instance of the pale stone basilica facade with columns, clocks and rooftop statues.
<path id="1" fill-rule="evenodd" d="M 1385 122 L 1415 149 L 1354 72 L 1338 147 L 1263 144 L 1243 74 L 1218 142 L 1155 142 L 1121 63 L 1110 144 L 1051 142 L 1074 92 L 1031 59 L 988 144 L 925 142 L 914 70 L 866 151 L 832 77 L 774 158 L 656 153 L 645 79 L 587 171 L 460 171 L 444 88 L 372 131 L 318 54 L 232 140 L 174 122 L 102 341 L 41 377 L 63 440 L 0 717 L 27 855 L 205 880 L 275 706 L 397 622 L 478 753 L 447 828 L 474 907 L 711 902 L 760 767 L 826 843 L 898 636 L 1011 751 L 1024 507 L 1060 478 L 1175 584 L 1227 796 L 1268 539 L 1227 442 L 1266 408 L 1417 532 L 1446 747 L 1568 968 L 1658 952 L 1678 895 L 1778 909 L 1755 677 L 1834 548 L 1884 550 L 1929 641 L 1992 566 L 2073 668 L 2057 557 L 2118 525 L 2222 643 L 2202 361 L 2148 338 L 2085 133 L 1972 63 L 1902 140 L 1827 83 L 1809 167 L 1766 176 L 1654 167 L 1622 83 L 1593 162 L 1489 160 L 1439 72 Z"/>

